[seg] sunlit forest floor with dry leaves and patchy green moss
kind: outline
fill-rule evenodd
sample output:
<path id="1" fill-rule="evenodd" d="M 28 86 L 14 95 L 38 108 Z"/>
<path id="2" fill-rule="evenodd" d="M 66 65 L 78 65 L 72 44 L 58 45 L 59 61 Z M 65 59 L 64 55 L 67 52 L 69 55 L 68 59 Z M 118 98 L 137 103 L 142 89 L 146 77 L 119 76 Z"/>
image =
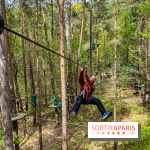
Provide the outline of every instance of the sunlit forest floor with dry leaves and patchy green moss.
<path id="1" fill-rule="evenodd" d="M 140 142 L 118 142 L 118 149 L 150 150 L 150 139 L 147 137 L 150 136 L 148 108 L 143 106 L 140 97 L 134 96 L 133 93 L 134 91 L 129 88 L 118 90 L 117 121 L 139 122 L 142 126 L 142 134 L 144 135 L 144 137 L 142 135 L 142 138 L 144 139 Z M 100 98 L 106 109 L 113 111 L 112 79 L 105 82 L 104 93 L 101 94 Z M 42 120 L 43 150 L 61 150 L 61 124 L 56 126 L 54 113 L 50 109 L 43 110 L 42 118 L 49 119 L 49 121 Z M 90 141 L 87 138 L 88 122 L 99 121 L 101 121 L 101 115 L 96 106 L 81 105 L 77 118 L 75 120 L 68 119 L 70 123 L 68 124 L 68 149 L 113 150 L 113 142 L 111 141 Z M 113 117 L 110 117 L 108 121 L 113 121 Z M 28 135 L 21 141 L 21 149 L 38 150 L 38 127 L 32 127 L 32 117 L 27 119 L 27 132 Z M 138 143 L 139 145 L 137 145 Z"/>

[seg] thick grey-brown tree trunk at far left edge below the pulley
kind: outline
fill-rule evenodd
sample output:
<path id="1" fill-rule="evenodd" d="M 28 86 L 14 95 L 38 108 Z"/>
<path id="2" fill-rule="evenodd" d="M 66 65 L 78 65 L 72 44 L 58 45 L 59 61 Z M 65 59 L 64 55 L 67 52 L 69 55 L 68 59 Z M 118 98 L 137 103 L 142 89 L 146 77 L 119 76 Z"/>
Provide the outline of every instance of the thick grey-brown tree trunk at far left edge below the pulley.
<path id="1" fill-rule="evenodd" d="M 3 117 L 3 128 L 6 150 L 13 150 L 11 101 L 8 72 L 8 46 L 5 45 L 4 33 L 0 35 L 0 104 Z"/>

